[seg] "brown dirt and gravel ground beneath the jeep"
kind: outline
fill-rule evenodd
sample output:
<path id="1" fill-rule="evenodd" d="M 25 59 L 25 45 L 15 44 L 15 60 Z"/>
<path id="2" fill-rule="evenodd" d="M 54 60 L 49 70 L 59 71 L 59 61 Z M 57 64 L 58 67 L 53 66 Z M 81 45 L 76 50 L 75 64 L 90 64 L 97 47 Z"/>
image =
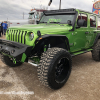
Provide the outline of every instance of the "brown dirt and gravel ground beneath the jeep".
<path id="1" fill-rule="evenodd" d="M 34 92 L 0 94 L 0 100 L 100 100 L 100 62 L 92 59 L 91 52 L 73 57 L 72 61 L 69 80 L 54 91 L 41 85 L 36 67 L 24 63 L 9 68 L 0 60 L 0 92 Z"/>

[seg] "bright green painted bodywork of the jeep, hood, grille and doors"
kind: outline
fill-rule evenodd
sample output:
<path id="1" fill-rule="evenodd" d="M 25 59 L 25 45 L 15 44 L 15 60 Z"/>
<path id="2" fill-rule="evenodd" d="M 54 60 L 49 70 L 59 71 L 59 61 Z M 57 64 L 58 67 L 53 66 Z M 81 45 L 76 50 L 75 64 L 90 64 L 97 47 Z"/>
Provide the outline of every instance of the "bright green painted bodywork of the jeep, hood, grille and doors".
<path id="1" fill-rule="evenodd" d="M 41 32 L 41 35 L 65 35 L 68 38 L 70 50 L 69 52 L 74 55 L 78 55 L 84 52 L 84 50 L 91 51 L 94 41 L 100 30 L 97 30 L 97 23 L 96 27 L 90 27 L 90 15 L 92 13 L 77 11 L 77 17 L 75 19 L 74 27 L 68 24 L 52 24 L 52 23 L 40 23 L 37 25 L 27 24 L 22 26 L 10 27 L 9 33 L 7 31 L 6 39 L 11 41 L 16 41 L 19 43 L 23 43 L 29 46 L 35 47 L 35 41 L 39 37 L 37 35 L 37 31 Z M 87 27 L 80 27 L 76 28 L 77 26 L 77 19 L 78 14 L 83 13 L 87 14 Z M 94 14 L 96 16 L 96 14 Z M 97 20 L 97 16 L 96 16 Z M 27 32 L 27 34 L 25 33 Z M 86 32 L 89 32 L 86 34 Z M 94 33 L 97 32 L 97 33 Z M 34 34 L 33 40 L 30 40 L 29 35 L 30 33 Z M 12 35 L 13 34 L 13 35 Z M 44 48 L 45 51 L 45 48 Z M 25 54 L 23 54 L 21 62 L 24 62 L 26 59 Z"/>

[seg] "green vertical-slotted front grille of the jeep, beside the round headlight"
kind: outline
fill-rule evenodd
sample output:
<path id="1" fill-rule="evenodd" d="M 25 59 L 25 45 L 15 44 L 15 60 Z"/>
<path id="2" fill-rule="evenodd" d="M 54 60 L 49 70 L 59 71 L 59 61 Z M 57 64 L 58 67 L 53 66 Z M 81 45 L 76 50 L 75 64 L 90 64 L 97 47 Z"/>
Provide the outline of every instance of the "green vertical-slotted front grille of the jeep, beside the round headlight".
<path id="1" fill-rule="evenodd" d="M 27 34 L 27 31 L 9 30 L 9 38 L 8 38 L 8 40 L 25 44 L 25 36 L 26 36 L 26 34 Z"/>

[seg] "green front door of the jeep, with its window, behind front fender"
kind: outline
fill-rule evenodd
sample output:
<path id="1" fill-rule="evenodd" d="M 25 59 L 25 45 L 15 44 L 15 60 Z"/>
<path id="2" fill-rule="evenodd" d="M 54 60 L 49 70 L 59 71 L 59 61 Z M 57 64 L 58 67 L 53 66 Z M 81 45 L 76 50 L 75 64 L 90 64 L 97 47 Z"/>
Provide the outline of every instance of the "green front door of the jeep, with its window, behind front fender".
<path id="1" fill-rule="evenodd" d="M 83 49 L 85 49 L 85 45 L 86 45 L 86 34 L 88 32 L 88 25 L 87 25 L 87 14 L 84 13 L 80 13 L 78 15 L 78 19 L 84 19 L 85 23 L 82 27 L 78 27 L 78 25 L 76 25 L 77 27 L 75 27 L 75 31 L 72 34 L 72 38 L 73 38 L 73 44 L 74 46 L 71 47 L 71 51 L 72 52 L 77 52 L 77 51 L 81 51 Z"/>

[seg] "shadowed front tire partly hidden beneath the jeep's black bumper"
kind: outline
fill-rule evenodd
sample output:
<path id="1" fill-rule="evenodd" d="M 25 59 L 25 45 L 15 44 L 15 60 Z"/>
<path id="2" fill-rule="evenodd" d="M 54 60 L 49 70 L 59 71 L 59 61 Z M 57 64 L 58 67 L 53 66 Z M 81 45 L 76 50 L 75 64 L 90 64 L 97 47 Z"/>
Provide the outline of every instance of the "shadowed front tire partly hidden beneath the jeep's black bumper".
<path id="1" fill-rule="evenodd" d="M 16 64 L 14 64 L 13 61 L 11 60 L 11 58 L 6 55 L 1 55 L 1 60 L 3 63 L 8 65 L 9 67 L 16 67 L 16 66 L 22 65 L 21 62 L 16 62 Z"/>

